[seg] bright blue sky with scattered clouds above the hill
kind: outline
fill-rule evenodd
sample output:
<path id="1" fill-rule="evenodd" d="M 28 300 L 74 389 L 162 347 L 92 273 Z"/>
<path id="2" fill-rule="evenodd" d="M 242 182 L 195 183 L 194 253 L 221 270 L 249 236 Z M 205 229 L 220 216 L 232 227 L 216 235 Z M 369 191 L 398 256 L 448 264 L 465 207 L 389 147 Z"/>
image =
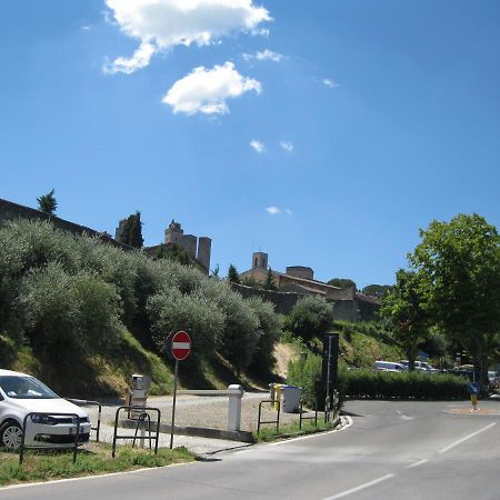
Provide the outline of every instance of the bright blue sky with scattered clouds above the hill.
<path id="1" fill-rule="evenodd" d="M 17 0 L 0 37 L 0 198 L 359 287 L 432 219 L 500 226 L 497 0 Z"/>

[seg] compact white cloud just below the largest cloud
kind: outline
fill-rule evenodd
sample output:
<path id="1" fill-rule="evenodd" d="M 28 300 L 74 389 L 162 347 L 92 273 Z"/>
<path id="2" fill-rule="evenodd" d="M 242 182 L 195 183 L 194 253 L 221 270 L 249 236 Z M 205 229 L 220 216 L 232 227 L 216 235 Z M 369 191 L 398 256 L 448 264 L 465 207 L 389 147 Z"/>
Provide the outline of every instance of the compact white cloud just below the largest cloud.
<path id="1" fill-rule="evenodd" d="M 171 106 L 174 113 L 226 114 L 227 99 L 250 90 L 260 93 L 262 87 L 259 81 L 241 76 L 232 62 L 211 70 L 200 66 L 173 83 L 162 102 Z"/>

